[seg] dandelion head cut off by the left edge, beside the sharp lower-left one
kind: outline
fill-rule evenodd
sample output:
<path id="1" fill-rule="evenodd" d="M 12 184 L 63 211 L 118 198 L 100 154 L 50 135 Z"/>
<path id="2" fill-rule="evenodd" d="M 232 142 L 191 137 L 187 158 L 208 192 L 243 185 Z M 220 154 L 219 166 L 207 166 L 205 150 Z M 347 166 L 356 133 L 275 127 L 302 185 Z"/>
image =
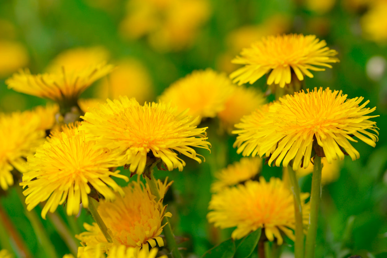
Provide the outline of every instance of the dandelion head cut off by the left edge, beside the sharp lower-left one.
<path id="1" fill-rule="evenodd" d="M 31 111 L 0 114 L 0 187 L 14 185 L 12 171 L 26 172 L 26 158 L 44 142 L 45 129 Z"/>

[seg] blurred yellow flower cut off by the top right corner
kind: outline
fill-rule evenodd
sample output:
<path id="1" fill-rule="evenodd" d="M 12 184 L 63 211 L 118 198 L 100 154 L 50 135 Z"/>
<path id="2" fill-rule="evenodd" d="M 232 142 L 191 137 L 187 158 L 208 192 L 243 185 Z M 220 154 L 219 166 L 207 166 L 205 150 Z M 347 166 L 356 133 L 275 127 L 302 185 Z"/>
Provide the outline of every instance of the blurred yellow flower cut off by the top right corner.
<path id="1" fill-rule="evenodd" d="M 387 2 L 377 1 L 361 17 L 361 27 L 365 38 L 376 42 L 387 41 Z"/>

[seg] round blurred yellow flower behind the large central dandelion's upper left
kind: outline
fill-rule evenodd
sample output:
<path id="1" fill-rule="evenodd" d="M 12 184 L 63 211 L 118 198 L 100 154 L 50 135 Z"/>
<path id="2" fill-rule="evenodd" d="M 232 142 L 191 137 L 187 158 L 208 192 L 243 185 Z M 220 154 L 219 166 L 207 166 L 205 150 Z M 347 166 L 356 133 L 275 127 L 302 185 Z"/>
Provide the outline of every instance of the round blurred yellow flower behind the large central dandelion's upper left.
<path id="1" fill-rule="evenodd" d="M 139 103 L 149 101 L 153 95 L 151 75 L 147 68 L 135 59 L 117 63 L 109 78 L 102 80 L 97 96 L 117 99 L 119 96 L 135 97 Z"/>

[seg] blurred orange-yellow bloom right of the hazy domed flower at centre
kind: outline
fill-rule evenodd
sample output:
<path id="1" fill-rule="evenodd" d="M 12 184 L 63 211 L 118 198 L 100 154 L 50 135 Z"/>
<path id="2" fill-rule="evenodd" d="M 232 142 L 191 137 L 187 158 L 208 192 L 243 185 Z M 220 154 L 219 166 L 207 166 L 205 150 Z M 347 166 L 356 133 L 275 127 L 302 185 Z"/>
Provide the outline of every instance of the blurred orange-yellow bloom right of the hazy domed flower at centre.
<path id="1" fill-rule="evenodd" d="M 217 116 L 221 125 L 228 131 L 234 129 L 244 115 L 251 114 L 265 103 L 266 99 L 257 89 L 233 85 L 233 92 L 224 103 L 224 109 Z"/>

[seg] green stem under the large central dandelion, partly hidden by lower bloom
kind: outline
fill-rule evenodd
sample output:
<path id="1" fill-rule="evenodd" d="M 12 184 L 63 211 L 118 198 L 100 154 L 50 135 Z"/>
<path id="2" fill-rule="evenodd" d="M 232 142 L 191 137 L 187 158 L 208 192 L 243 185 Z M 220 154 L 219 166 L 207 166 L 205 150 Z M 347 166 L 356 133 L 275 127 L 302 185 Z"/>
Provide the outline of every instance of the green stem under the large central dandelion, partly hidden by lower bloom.
<path id="1" fill-rule="evenodd" d="M 156 202 L 160 200 L 160 193 L 157 188 L 156 179 L 154 178 L 153 171 L 150 173 L 151 179 L 145 177 L 149 188 L 151 189 L 152 195 L 156 196 Z M 168 217 L 164 217 L 163 223 L 166 223 L 165 227 L 163 228 L 163 232 L 165 235 L 166 243 L 168 245 L 168 249 L 171 251 L 173 258 L 181 258 L 179 249 L 177 247 L 175 235 L 173 234 L 171 223 L 169 222 Z"/>

